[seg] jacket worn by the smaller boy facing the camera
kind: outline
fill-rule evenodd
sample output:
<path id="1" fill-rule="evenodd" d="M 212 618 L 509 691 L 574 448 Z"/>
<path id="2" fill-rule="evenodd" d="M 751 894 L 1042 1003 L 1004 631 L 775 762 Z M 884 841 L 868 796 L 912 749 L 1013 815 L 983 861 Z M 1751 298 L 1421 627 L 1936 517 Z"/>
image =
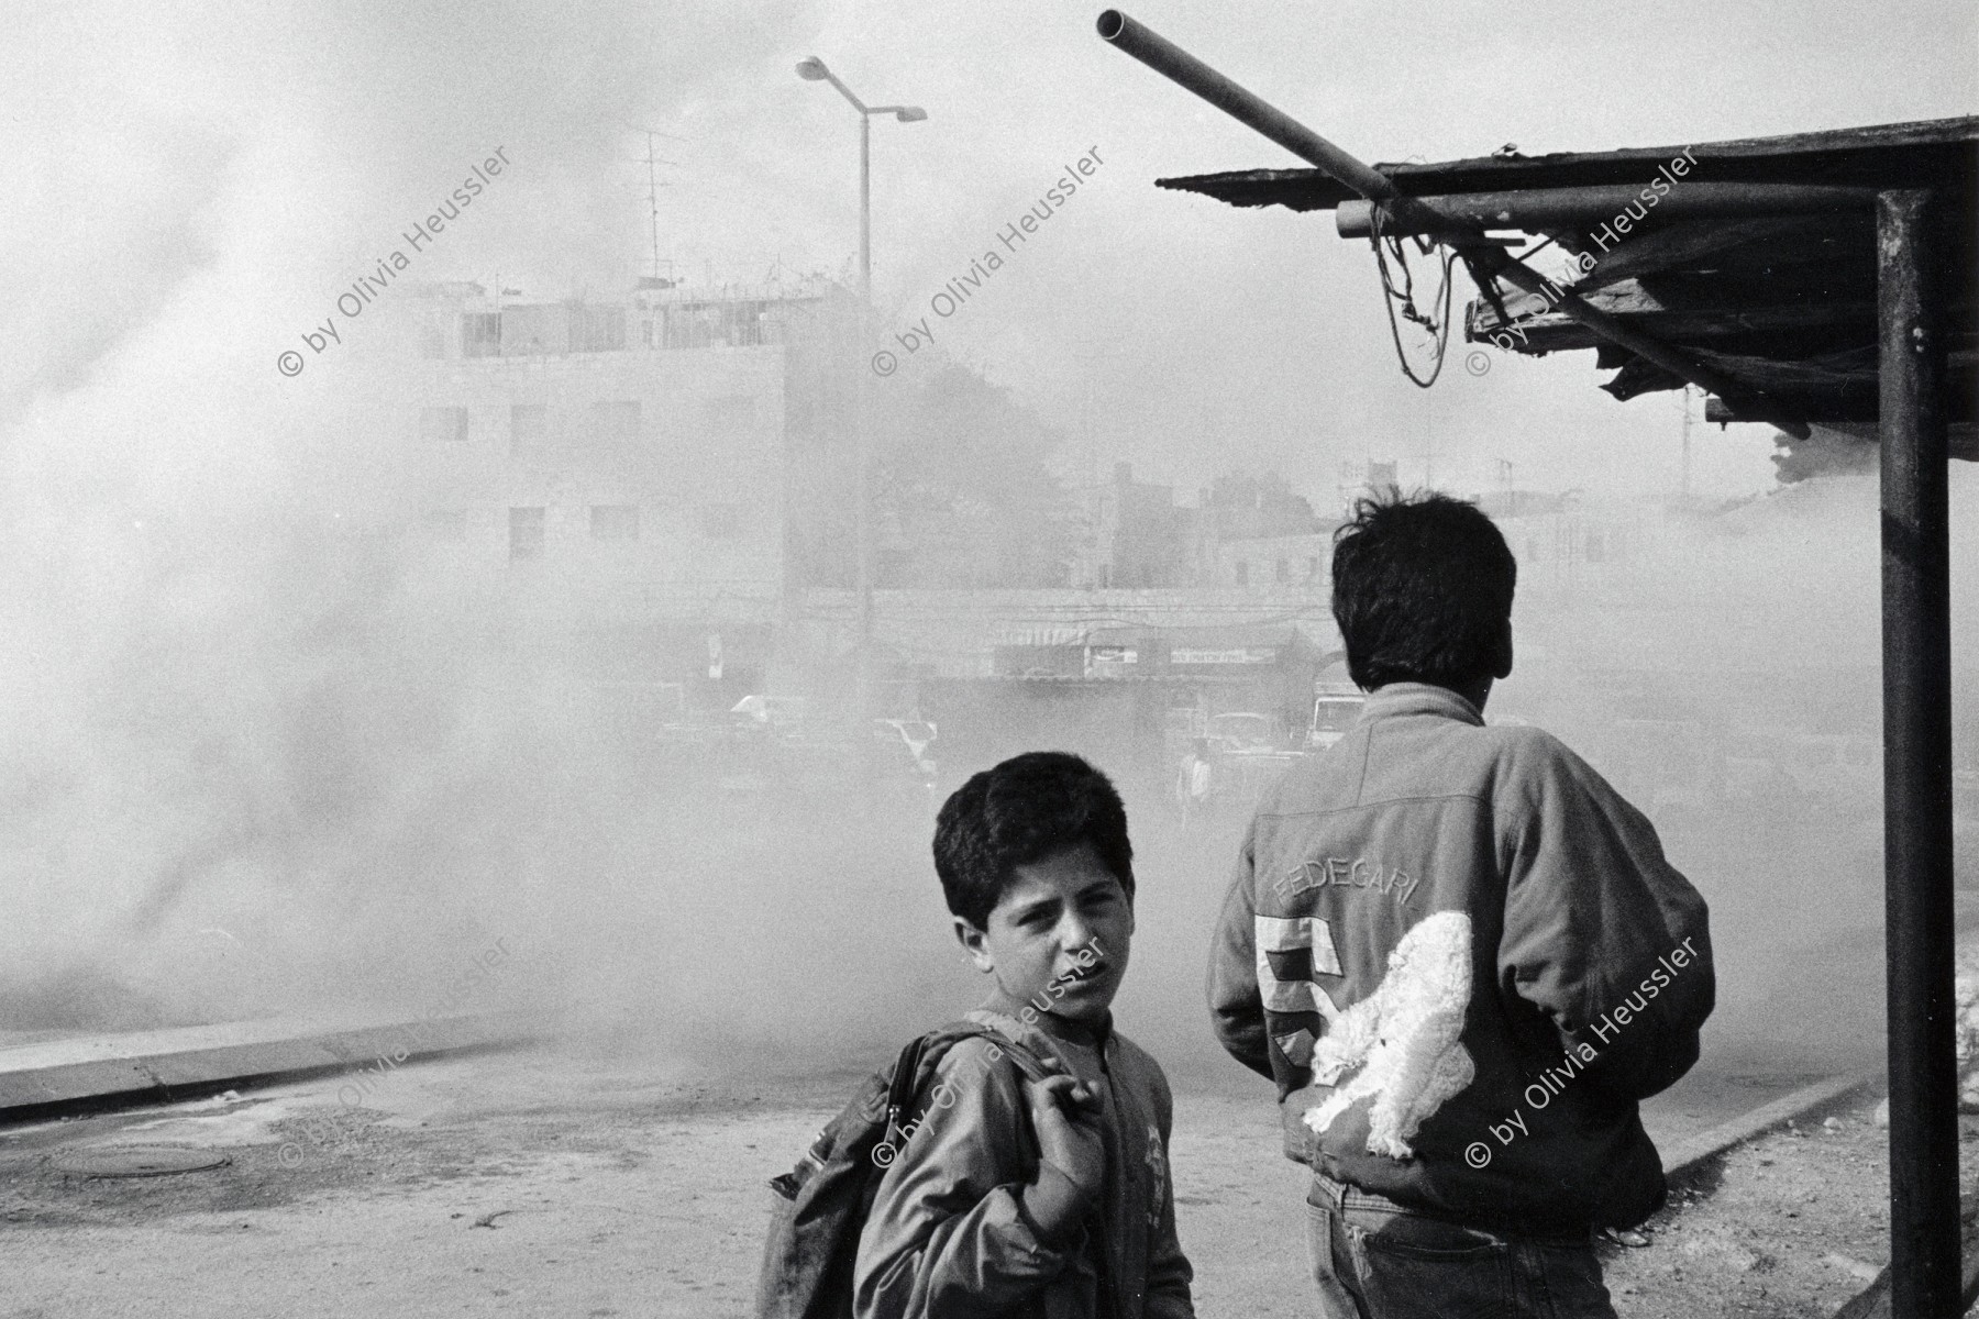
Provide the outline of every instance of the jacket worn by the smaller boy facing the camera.
<path id="1" fill-rule="evenodd" d="M 1189 1262 L 1168 1179 L 1172 1103 L 1162 1068 L 1132 1040 L 1065 1044 L 997 1012 L 970 1012 L 1039 1058 L 1106 1082 L 1106 1187 L 1071 1240 L 1025 1212 L 1037 1173 L 1023 1076 L 988 1038 L 936 1068 L 938 1101 L 887 1169 L 859 1240 L 859 1319 L 1187 1319 Z"/>

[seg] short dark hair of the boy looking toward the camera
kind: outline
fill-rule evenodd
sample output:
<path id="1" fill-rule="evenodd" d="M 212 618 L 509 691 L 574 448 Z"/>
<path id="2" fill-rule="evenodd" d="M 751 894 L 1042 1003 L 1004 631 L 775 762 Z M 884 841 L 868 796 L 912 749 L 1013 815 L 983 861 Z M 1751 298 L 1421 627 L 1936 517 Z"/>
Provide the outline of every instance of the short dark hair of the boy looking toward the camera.
<path id="1" fill-rule="evenodd" d="M 1134 902 L 1134 844 L 1112 779 L 1069 751 L 1025 751 L 972 775 L 942 803 L 934 872 L 948 910 L 984 929 L 1017 866 L 1081 842 Z"/>

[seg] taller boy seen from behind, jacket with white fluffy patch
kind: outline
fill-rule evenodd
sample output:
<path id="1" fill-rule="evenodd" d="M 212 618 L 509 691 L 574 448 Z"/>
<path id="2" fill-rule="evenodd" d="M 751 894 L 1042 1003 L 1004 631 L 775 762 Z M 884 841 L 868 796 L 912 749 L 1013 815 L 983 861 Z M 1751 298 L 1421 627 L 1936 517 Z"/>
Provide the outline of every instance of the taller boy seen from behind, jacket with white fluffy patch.
<path id="1" fill-rule="evenodd" d="M 1328 1319 L 1613 1319 L 1591 1234 L 1664 1196 L 1639 1099 L 1698 1058 L 1704 900 L 1536 728 L 1486 728 L 1518 566 L 1476 506 L 1362 500 L 1334 617 L 1371 694 L 1259 805 L 1211 949 L 1223 1046 L 1312 1165 Z"/>

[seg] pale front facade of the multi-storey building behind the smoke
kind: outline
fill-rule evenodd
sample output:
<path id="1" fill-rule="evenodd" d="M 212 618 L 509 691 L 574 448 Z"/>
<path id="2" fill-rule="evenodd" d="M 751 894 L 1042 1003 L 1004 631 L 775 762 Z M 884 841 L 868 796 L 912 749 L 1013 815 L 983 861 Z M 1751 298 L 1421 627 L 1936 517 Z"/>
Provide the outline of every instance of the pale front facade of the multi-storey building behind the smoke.
<path id="1" fill-rule="evenodd" d="M 746 684 L 786 593 L 790 344 L 823 299 L 425 291 L 404 417 L 425 536 L 463 589 L 588 639 L 602 672 Z"/>

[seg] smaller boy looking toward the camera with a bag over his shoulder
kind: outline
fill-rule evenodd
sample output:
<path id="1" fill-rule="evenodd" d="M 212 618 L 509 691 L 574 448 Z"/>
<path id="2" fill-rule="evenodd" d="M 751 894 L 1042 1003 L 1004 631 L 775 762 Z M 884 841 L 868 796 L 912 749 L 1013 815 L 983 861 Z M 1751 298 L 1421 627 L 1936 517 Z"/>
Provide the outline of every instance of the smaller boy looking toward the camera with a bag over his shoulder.
<path id="1" fill-rule="evenodd" d="M 1183 1319 L 1170 1094 L 1112 1030 L 1134 939 L 1126 809 L 1098 769 L 1031 751 L 942 807 L 934 868 L 991 991 L 942 1056 L 859 1238 L 859 1319 Z M 999 1044 L 999 1040 L 1003 1044 Z M 1007 1046 L 1043 1064 L 1029 1082 Z"/>

